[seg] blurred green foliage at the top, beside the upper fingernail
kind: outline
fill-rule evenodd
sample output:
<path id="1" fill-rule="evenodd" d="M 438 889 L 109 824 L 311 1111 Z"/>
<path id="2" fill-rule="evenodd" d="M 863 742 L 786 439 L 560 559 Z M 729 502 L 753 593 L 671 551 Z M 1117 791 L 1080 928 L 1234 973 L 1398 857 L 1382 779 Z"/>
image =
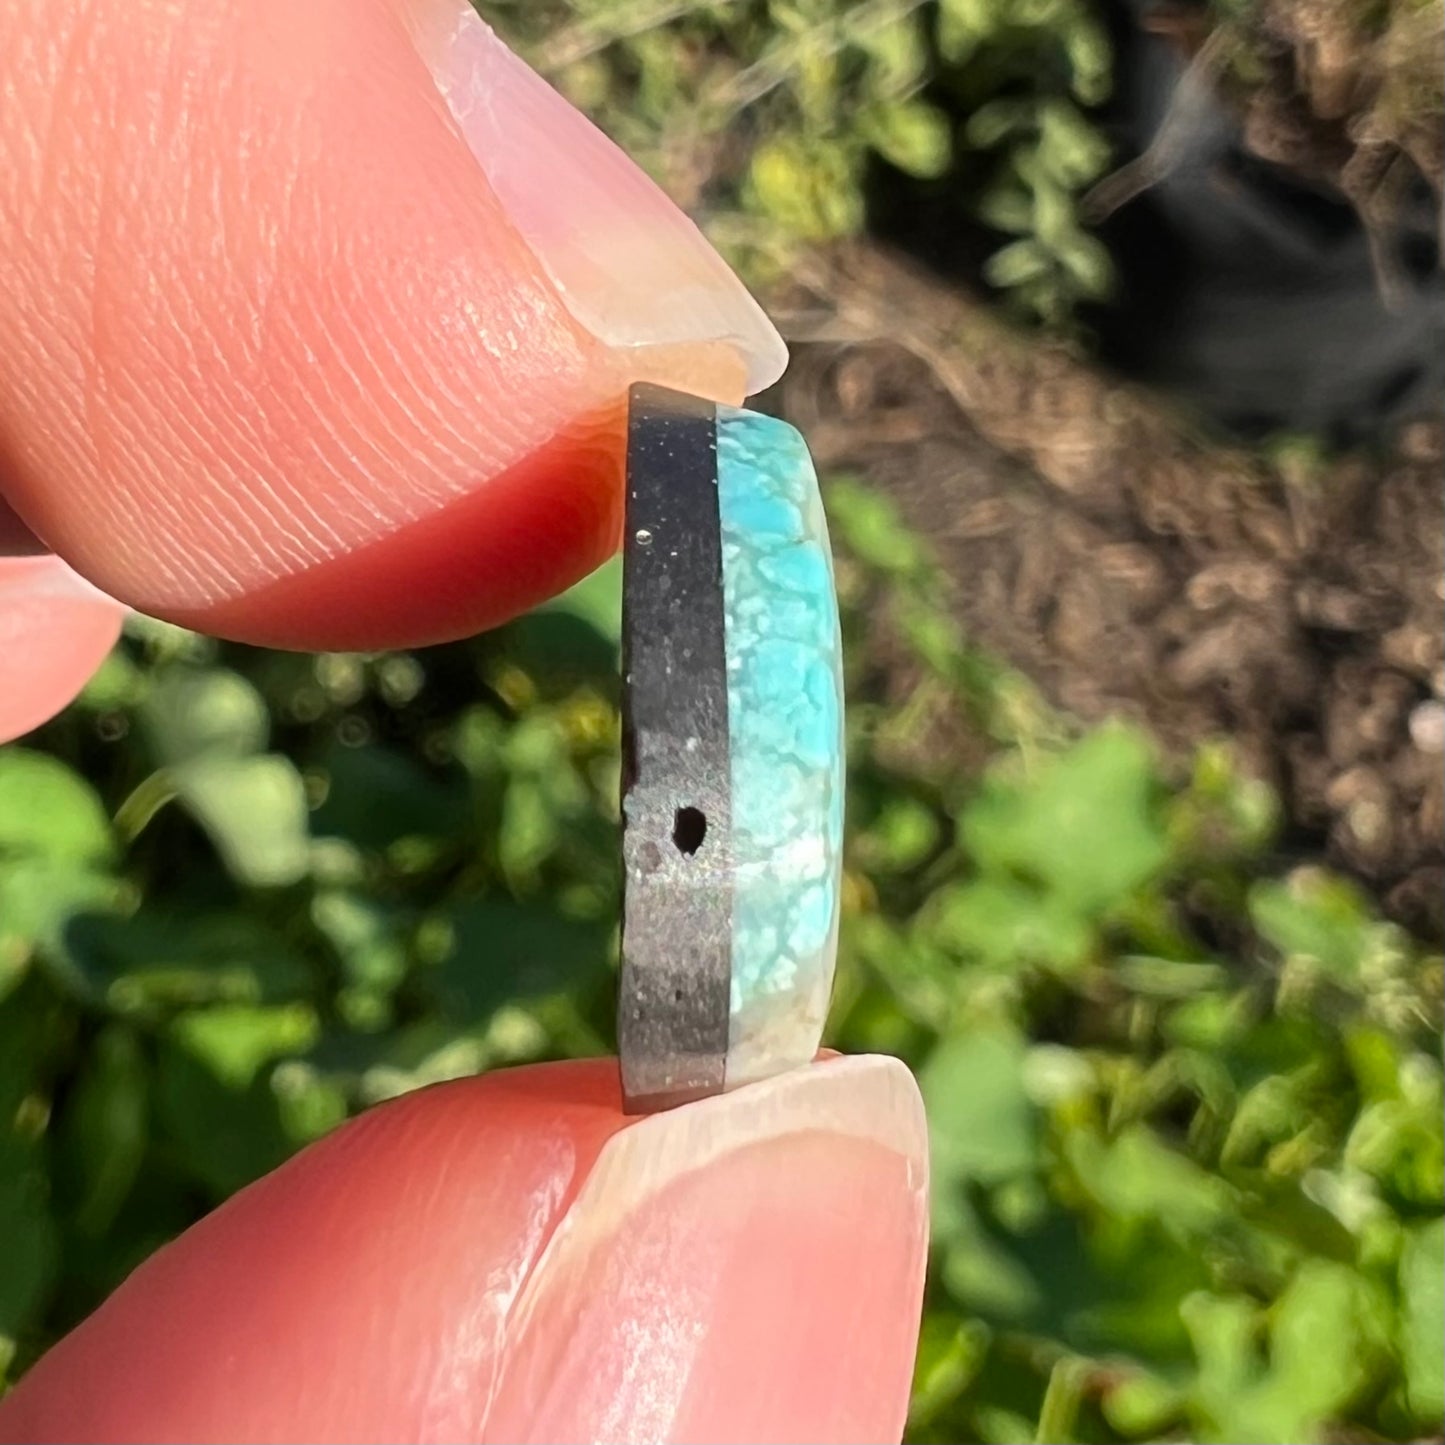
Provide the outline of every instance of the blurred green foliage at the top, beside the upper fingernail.
<path id="1" fill-rule="evenodd" d="M 1111 285 L 1078 198 L 1110 43 L 1091 0 L 497 0 L 488 19 L 747 272 L 864 227 L 870 169 L 948 181 L 984 275 L 1062 324 Z"/>

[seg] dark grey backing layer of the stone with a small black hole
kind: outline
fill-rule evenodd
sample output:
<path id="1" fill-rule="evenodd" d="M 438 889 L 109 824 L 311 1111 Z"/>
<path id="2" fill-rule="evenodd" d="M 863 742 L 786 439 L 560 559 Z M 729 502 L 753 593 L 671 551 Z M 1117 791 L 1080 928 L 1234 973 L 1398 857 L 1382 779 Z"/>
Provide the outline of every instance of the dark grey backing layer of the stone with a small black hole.
<path id="1" fill-rule="evenodd" d="M 725 1085 L 733 857 L 715 418 L 712 403 L 665 387 L 629 394 L 617 1009 L 629 1113 Z M 701 815 L 701 841 L 679 828 L 682 809 L 695 811 L 691 825 Z"/>

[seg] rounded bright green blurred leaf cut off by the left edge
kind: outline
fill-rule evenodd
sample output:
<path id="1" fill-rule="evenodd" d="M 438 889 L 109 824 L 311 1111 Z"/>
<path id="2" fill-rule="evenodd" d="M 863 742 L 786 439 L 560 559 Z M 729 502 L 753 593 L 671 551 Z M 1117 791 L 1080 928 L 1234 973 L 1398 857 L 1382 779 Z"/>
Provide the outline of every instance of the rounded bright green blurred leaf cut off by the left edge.
<path id="1" fill-rule="evenodd" d="M 114 855 L 110 819 L 90 783 L 45 753 L 0 749 L 0 860 L 103 867 Z"/>

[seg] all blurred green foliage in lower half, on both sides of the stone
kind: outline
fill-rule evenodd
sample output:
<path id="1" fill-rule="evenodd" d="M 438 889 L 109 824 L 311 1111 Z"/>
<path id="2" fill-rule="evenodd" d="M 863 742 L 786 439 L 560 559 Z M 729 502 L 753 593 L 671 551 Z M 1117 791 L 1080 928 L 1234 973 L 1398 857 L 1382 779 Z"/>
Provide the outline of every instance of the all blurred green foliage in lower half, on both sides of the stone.
<path id="1" fill-rule="evenodd" d="M 1441 965 L 970 649 L 829 491 L 850 694 L 831 1040 L 919 1074 L 916 1441 L 1407 1439 L 1442 1403 Z M 617 571 L 410 655 L 136 621 L 0 750 L 0 1358 L 350 1111 L 611 1039 Z M 971 762 L 970 762 L 971 759 Z M 866 1267 L 861 1263 L 860 1267 Z"/>

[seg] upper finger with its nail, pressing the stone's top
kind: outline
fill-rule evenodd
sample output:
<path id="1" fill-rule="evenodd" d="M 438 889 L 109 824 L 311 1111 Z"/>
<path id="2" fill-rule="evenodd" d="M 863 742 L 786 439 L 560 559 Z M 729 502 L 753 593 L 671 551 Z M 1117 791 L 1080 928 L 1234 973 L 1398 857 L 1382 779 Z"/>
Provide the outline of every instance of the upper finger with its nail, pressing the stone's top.
<path id="1" fill-rule="evenodd" d="M 616 546 L 630 381 L 782 368 L 462 0 L 19 0 L 0 87 L 0 493 L 120 603 L 277 646 L 478 630 Z"/>

